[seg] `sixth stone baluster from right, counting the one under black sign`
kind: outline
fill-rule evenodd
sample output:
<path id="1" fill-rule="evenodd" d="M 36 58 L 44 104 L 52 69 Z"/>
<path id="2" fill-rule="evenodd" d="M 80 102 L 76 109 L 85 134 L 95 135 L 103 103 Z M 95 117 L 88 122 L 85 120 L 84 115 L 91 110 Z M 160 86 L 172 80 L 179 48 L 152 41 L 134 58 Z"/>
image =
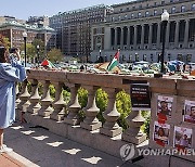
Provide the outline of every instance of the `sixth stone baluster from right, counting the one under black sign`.
<path id="1" fill-rule="evenodd" d="M 53 108 L 51 107 L 52 99 L 50 97 L 50 81 L 49 80 L 40 80 L 40 82 L 43 85 L 43 95 L 41 99 L 41 108 L 38 111 L 38 114 L 43 117 L 50 116 L 50 114 L 53 112 Z"/>

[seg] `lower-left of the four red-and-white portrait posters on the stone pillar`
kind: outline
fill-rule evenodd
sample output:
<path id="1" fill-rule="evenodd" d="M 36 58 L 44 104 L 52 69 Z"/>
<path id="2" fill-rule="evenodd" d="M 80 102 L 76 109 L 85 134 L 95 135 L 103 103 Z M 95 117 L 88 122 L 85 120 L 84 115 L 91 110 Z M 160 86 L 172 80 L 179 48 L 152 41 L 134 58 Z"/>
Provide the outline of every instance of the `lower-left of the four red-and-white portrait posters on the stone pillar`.
<path id="1" fill-rule="evenodd" d="M 161 146 L 169 144 L 170 125 L 154 123 L 154 134 L 153 140 Z"/>

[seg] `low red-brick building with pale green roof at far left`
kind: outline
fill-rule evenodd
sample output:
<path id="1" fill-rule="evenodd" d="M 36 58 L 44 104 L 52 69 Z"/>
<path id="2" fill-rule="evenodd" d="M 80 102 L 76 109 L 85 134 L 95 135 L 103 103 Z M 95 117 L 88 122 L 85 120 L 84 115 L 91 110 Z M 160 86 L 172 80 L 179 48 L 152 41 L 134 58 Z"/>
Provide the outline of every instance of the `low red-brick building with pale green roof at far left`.
<path id="1" fill-rule="evenodd" d="M 22 24 L 16 21 L 8 21 L 0 25 L 0 34 L 9 38 L 11 47 L 21 48 L 24 43 L 24 31 L 27 33 L 27 43 L 32 43 L 35 39 L 41 39 L 44 42 L 46 51 L 56 46 L 56 33 L 50 27 Z"/>

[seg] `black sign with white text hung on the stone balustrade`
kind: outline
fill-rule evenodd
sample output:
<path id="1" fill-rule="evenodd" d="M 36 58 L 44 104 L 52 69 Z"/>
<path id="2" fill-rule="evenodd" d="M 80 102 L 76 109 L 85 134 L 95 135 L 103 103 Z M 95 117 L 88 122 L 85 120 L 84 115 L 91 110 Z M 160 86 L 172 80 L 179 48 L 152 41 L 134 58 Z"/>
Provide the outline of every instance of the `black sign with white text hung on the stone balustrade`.
<path id="1" fill-rule="evenodd" d="M 130 89 L 132 110 L 151 111 L 148 84 L 133 84 Z"/>

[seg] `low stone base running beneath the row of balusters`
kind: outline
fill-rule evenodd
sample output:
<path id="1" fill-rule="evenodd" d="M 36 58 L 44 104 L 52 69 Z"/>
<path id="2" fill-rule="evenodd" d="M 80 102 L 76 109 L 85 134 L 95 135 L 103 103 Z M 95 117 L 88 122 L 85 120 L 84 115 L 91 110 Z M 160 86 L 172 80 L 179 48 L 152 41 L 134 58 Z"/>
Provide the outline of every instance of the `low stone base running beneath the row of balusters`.
<path id="1" fill-rule="evenodd" d="M 114 138 L 101 134 L 100 129 L 89 131 L 80 126 L 67 125 L 63 121 L 56 121 L 48 117 L 41 117 L 31 113 L 25 113 L 27 123 L 34 126 L 41 126 L 49 129 L 51 132 L 76 141 L 83 145 L 105 152 L 109 155 L 120 157 L 120 147 L 125 144 L 130 144 L 121 140 L 121 134 Z M 139 145 L 136 145 L 139 146 Z M 140 144 L 140 146 L 142 146 Z"/>

